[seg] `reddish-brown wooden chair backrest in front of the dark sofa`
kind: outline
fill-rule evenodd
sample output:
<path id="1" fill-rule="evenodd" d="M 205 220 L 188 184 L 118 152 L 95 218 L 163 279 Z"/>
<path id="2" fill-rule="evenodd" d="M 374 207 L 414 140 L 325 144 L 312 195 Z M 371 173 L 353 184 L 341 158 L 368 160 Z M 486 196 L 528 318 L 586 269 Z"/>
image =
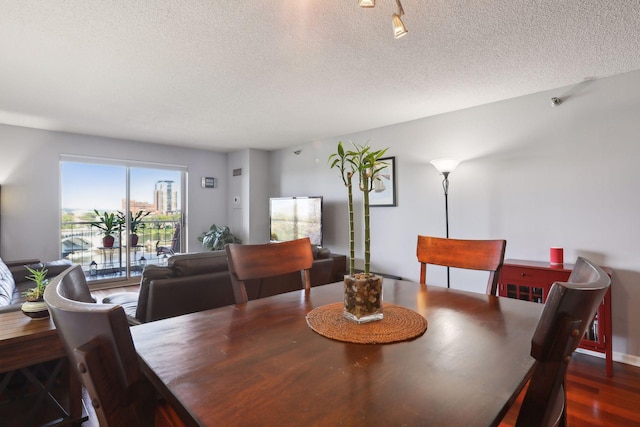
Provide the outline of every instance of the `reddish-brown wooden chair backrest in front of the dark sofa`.
<path id="1" fill-rule="evenodd" d="M 236 304 L 247 302 L 246 280 L 300 271 L 304 288 L 311 289 L 309 270 L 313 265 L 313 251 L 307 237 L 262 245 L 229 243 L 225 249 Z"/>

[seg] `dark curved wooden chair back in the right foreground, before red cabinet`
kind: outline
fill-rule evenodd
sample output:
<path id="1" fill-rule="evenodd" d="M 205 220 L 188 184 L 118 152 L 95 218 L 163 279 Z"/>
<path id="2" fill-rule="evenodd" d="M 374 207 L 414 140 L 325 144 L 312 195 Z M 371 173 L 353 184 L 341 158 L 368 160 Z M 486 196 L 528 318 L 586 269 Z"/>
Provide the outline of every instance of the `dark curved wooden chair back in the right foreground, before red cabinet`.
<path id="1" fill-rule="evenodd" d="M 567 283 L 553 284 L 531 340 L 536 363 L 517 427 L 552 426 L 566 420 L 567 366 L 610 285 L 606 272 L 581 257 Z"/>

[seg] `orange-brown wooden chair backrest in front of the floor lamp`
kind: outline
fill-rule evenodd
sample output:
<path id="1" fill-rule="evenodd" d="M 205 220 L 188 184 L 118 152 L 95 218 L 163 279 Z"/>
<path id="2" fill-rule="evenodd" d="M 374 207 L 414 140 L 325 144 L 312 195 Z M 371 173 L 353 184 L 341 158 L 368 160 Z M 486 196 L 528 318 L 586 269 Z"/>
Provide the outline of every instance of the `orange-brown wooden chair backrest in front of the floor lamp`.
<path id="1" fill-rule="evenodd" d="M 487 295 L 496 295 L 504 262 L 506 240 L 461 240 L 418 236 L 416 254 L 420 262 L 420 283 L 427 280 L 427 264 L 489 272 Z"/>

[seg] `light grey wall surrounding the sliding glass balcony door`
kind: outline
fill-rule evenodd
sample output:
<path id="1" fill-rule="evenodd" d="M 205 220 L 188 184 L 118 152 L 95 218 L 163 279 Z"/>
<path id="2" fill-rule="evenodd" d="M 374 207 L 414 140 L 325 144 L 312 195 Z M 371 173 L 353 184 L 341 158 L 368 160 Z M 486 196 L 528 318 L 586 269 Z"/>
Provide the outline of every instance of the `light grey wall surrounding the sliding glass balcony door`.
<path id="1" fill-rule="evenodd" d="M 0 125 L 2 258 L 60 256 L 61 154 L 187 166 L 189 251 L 202 250 L 197 237 L 212 223 L 227 222 L 226 154 Z M 203 176 L 216 177 L 216 188 L 202 188 Z"/>

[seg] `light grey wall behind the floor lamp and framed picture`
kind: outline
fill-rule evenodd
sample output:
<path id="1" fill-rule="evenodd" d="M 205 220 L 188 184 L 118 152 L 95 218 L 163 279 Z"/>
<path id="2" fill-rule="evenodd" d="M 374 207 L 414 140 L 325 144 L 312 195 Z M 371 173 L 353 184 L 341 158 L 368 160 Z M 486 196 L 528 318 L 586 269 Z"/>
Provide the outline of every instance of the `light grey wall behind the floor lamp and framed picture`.
<path id="1" fill-rule="evenodd" d="M 551 107 L 553 96 L 564 102 Z M 614 357 L 640 362 L 640 72 L 318 141 L 299 156 L 273 152 L 271 196 L 323 195 L 325 245 L 339 253 L 346 190 L 327 158 L 349 139 L 396 156 L 398 206 L 372 208 L 373 271 L 418 280 L 416 236 L 444 236 L 442 177 L 429 161 L 462 159 L 450 176 L 451 237 L 505 238 L 516 259 L 547 261 L 562 246 L 567 261 L 611 267 Z M 474 288 L 467 279 L 452 274 L 452 287 Z M 444 269 L 430 268 L 429 281 L 444 285 Z"/>

